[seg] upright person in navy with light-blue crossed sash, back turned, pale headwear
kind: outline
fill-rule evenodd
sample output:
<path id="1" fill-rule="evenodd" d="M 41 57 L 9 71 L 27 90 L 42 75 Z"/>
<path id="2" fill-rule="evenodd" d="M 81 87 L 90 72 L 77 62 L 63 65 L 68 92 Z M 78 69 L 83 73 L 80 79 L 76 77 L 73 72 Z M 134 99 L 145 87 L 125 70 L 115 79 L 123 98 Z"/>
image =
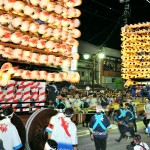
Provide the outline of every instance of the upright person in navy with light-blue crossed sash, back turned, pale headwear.
<path id="1" fill-rule="evenodd" d="M 110 120 L 104 114 L 104 109 L 101 105 L 97 105 L 96 113 L 91 117 L 89 125 L 91 140 L 94 140 L 96 150 L 106 150 L 109 126 Z"/>

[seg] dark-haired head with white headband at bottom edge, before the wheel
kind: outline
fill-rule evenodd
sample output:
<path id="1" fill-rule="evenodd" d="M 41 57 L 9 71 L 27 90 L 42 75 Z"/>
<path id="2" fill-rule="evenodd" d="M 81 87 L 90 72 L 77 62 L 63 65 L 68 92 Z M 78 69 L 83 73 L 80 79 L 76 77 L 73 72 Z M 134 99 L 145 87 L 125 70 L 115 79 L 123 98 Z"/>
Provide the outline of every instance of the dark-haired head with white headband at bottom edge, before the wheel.
<path id="1" fill-rule="evenodd" d="M 45 143 L 44 150 L 57 150 L 57 142 L 52 139 L 48 139 Z"/>

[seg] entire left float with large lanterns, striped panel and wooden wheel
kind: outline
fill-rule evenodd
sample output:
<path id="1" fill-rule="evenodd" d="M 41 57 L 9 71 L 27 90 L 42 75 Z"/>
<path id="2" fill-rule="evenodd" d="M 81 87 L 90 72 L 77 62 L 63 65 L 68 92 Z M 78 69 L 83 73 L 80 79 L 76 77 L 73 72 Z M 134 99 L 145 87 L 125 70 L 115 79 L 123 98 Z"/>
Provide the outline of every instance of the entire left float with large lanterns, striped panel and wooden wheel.
<path id="1" fill-rule="evenodd" d="M 0 0 L 0 107 L 11 105 L 16 112 L 25 112 L 34 100 L 36 111 L 25 126 L 27 150 L 43 150 L 45 127 L 56 114 L 44 108 L 46 82 L 80 81 L 75 68 L 81 35 L 77 29 L 81 12 L 76 7 L 81 3 Z"/>

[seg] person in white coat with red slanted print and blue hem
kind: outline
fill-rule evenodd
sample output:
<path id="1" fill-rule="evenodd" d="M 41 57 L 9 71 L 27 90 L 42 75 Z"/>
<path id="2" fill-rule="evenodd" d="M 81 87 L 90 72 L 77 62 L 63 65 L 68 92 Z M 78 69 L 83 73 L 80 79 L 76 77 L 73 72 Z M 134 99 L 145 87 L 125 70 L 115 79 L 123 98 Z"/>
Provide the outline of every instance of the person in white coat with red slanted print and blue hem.
<path id="1" fill-rule="evenodd" d="M 71 120 L 72 116 L 73 109 L 66 108 L 63 115 L 58 114 L 52 117 L 50 120 L 50 139 L 53 139 L 57 142 L 58 149 L 77 150 L 77 127 Z M 48 131 L 48 128 L 46 131 Z"/>

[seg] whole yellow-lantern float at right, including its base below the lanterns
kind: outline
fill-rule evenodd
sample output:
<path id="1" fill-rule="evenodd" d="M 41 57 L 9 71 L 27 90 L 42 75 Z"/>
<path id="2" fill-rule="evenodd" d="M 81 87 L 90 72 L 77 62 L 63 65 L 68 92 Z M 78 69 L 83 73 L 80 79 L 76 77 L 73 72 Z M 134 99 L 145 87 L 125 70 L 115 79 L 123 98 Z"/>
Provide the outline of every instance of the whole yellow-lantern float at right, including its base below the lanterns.
<path id="1" fill-rule="evenodd" d="M 125 25 L 121 29 L 121 76 L 125 80 L 125 88 L 133 86 L 131 95 L 134 97 L 141 98 L 145 95 L 149 97 L 149 88 L 147 89 L 150 81 L 149 30 L 150 22 Z M 144 94 L 142 94 L 143 91 Z M 145 105 L 144 100 L 141 102 L 137 98 L 137 101 L 135 102 L 137 111 L 142 113 Z"/>

